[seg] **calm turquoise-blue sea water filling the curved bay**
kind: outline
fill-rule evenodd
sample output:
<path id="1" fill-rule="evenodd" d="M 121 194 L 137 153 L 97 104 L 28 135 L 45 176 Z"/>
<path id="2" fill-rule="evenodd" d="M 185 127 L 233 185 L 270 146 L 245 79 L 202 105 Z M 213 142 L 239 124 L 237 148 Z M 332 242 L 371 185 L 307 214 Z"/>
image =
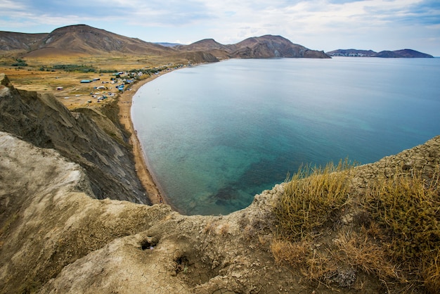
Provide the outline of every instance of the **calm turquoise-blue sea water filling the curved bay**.
<path id="1" fill-rule="evenodd" d="M 131 113 L 176 210 L 218 215 L 302 163 L 368 163 L 440 134 L 440 58 L 227 60 L 145 84 Z"/>

